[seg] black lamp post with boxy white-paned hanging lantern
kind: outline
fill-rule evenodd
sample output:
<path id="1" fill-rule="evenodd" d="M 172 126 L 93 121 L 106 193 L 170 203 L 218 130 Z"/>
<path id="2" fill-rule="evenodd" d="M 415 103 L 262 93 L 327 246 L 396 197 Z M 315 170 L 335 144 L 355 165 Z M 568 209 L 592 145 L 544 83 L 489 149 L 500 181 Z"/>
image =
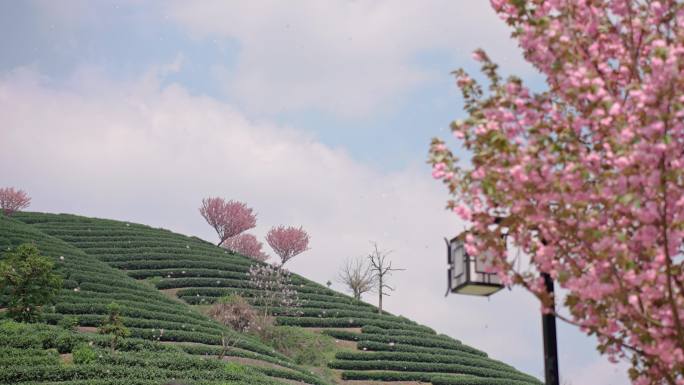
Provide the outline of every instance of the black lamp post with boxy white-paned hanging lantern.
<path id="1" fill-rule="evenodd" d="M 477 295 L 488 297 L 503 289 L 499 276 L 490 269 L 491 256 L 472 256 L 465 250 L 463 232 L 451 240 L 444 239 L 447 244 L 447 295 L 449 293 Z M 553 294 L 553 279 L 542 273 L 546 291 Z M 553 299 L 553 296 L 551 296 Z M 555 302 L 552 303 L 555 309 Z M 542 313 L 542 334 L 544 337 L 544 374 L 546 385 L 558 385 L 558 343 L 556 338 L 556 317 Z"/>

